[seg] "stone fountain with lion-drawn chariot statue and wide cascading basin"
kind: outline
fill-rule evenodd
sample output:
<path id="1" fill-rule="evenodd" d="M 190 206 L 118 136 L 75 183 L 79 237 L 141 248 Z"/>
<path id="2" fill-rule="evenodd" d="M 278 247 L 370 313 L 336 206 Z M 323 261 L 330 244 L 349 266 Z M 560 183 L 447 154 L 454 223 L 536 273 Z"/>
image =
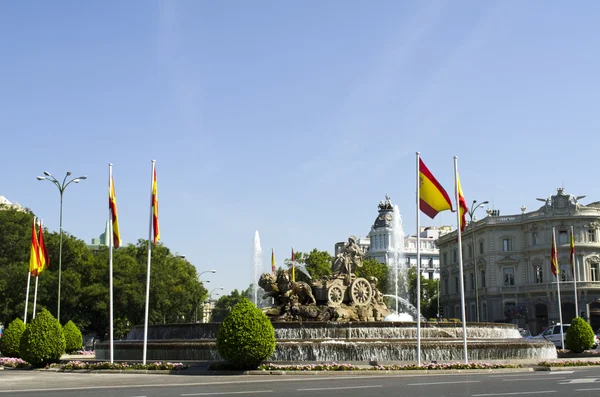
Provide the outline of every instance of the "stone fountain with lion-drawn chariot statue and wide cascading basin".
<path id="1" fill-rule="evenodd" d="M 399 211 L 388 206 L 388 201 L 383 209 L 380 204 L 380 214 L 389 221 L 388 215 L 399 217 Z M 400 247 L 397 242 L 394 246 Z M 421 320 L 421 360 L 463 361 L 462 324 L 425 321 L 400 296 L 408 296 L 403 274 L 408 269 L 399 266 L 405 261 L 397 253 L 391 269 L 396 284 L 391 306 L 395 310 L 386 305 L 377 279 L 356 275 L 363 251 L 354 237 L 333 259 L 331 275 L 320 280 L 295 281 L 288 270 L 261 274 L 257 284 L 262 298 L 273 302 L 262 310 L 271 319 L 277 339 L 269 361 L 416 362 L 417 317 Z M 258 301 L 258 296 L 254 299 Z M 389 321 L 397 319 L 414 321 Z M 218 328 L 219 323 L 149 325 L 147 359 L 220 360 L 215 343 Z M 142 359 L 143 331 L 143 326 L 133 327 L 125 340 L 114 342 L 115 360 Z M 514 324 L 468 323 L 466 334 L 469 361 L 535 362 L 557 357 L 552 343 L 523 339 Z M 109 348 L 106 342 L 97 344 L 96 358 L 108 359 Z"/>

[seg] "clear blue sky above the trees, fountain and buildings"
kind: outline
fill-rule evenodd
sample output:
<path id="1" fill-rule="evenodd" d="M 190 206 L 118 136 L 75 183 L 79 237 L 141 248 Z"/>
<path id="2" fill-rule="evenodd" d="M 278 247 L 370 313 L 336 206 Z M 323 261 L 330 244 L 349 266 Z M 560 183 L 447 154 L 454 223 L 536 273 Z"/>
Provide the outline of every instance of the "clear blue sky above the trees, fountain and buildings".
<path id="1" fill-rule="evenodd" d="M 86 174 L 64 228 L 148 235 L 209 289 L 263 262 L 365 236 L 389 194 L 415 232 L 415 152 L 501 214 L 557 187 L 600 201 L 600 3 L 579 1 L 0 2 L 0 195 L 58 230 L 35 177 Z M 483 210 L 481 215 L 483 215 Z M 424 225 L 456 223 L 441 213 Z M 209 276 L 209 277 L 206 277 Z"/>

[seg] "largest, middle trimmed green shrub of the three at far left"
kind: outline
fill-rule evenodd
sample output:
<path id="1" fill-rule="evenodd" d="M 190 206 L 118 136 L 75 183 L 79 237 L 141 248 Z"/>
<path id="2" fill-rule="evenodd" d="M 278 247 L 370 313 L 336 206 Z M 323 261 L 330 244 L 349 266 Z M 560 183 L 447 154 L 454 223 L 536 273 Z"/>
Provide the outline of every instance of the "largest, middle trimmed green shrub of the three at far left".
<path id="1" fill-rule="evenodd" d="M 57 319 L 43 309 L 21 337 L 21 358 L 35 367 L 56 363 L 65 353 L 65 335 Z"/>

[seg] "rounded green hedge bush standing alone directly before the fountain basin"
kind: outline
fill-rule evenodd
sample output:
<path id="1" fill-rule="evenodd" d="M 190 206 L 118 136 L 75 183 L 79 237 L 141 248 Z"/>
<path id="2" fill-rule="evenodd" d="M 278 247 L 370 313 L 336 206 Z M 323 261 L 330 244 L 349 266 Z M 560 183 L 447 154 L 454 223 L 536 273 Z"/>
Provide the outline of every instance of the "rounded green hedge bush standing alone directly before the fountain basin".
<path id="1" fill-rule="evenodd" d="M 275 329 L 259 308 L 243 298 L 221 323 L 217 350 L 235 368 L 258 368 L 275 350 Z"/>

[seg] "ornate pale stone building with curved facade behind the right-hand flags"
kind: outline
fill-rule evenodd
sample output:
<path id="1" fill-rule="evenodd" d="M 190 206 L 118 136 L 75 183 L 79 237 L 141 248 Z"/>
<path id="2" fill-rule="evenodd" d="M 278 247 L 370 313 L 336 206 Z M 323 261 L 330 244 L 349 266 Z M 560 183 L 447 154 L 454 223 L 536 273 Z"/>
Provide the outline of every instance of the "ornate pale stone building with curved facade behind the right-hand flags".
<path id="1" fill-rule="evenodd" d="M 513 322 L 532 334 L 559 322 L 556 278 L 550 270 L 552 228 L 561 269 L 563 323 L 575 316 L 574 274 L 579 315 L 600 328 L 600 202 L 582 205 L 584 196 L 563 189 L 539 209 L 500 216 L 489 211 L 462 233 L 467 321 Z M 575 268 L 570 265 L 574 229 Z M 437 241 L 441 257 L 440 305 L 445 317 L 460 318 L 456 231 Z M 477 310 L 477 308 L 479 310 Z"/>

